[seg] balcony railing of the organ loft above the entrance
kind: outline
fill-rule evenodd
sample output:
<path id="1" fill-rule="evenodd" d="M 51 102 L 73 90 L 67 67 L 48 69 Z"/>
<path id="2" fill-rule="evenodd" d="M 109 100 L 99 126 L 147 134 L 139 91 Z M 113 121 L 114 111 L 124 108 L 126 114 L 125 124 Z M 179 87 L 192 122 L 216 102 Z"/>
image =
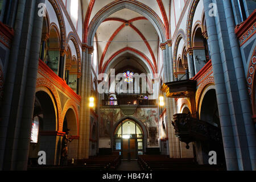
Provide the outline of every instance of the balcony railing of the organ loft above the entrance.
<path id="1" fill-rule="evenodd" d="M 141 106 L 155 106 L 156 100 L 102 100 L 103 106 L 119 106 L 119 105 L 141 105 Z"/>

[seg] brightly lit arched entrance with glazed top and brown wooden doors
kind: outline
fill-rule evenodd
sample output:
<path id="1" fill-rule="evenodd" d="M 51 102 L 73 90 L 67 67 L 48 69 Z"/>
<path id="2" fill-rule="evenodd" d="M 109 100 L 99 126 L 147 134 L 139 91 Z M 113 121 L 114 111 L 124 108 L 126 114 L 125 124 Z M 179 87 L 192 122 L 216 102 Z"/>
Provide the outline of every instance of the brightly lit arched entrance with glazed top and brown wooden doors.
<path id="1" fill-rule="evenodd" d="M 114 150 L 122 159 L 134 160 L 143 154 L 143 132 L 138 123 L 126 119 L 117 126 L 114 135 Z"/>

